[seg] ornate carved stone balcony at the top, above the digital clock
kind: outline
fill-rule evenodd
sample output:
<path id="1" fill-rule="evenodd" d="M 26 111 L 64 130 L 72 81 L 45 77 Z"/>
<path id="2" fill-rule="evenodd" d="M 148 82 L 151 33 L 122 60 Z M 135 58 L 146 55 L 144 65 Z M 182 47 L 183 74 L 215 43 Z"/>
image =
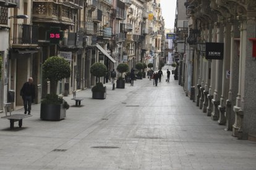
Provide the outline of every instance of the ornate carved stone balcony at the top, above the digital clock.
<path id="1" fill-rule="evenodd" d="M 33 22 L 74 25 L 72 7 L 54 1 L 34 1 L 32 13 Z"/>

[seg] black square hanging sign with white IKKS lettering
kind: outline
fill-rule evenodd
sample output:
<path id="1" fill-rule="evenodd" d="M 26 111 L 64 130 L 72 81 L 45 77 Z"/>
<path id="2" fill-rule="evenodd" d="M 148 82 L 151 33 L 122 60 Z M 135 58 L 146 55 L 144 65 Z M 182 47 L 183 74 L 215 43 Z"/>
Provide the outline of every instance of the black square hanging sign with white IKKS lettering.
<path id="1" fill-rule="evenodd" d="M 205 43 L 205 59 L 207 60 L 223 60 L 224 43 L 206 42 Z"/>

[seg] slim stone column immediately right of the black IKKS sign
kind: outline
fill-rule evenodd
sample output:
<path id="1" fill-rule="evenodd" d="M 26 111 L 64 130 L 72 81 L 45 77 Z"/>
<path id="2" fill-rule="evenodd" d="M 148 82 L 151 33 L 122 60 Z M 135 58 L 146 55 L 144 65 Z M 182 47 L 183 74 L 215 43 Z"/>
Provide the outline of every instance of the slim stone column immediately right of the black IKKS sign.
<path id="1" fill-rule="evenodd" d="M 226 76 L 226 71 L 230 71 L 230 53 L 231 53 L 231 24 L 224 23 L 224 59 L 223 59 L 223 73 L 222 73 L 222 93 L 220 98 L 220 105 L 218 110 L 220 111 L 220 117 L 218 119 L 219 124 L 226 124 L 226 99 L 228 98 L 228 85 L 229 77 Z"/>

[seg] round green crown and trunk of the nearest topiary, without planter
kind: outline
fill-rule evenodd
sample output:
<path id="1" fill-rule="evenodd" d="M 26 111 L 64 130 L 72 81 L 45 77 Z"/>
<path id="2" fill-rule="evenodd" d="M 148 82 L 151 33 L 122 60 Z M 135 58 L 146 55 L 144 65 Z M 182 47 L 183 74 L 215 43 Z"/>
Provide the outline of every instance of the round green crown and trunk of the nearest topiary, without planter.
<path id="1" fill-rule="evenodd" d="M 51 93 L 56 94 L 58 81 L 70 77 L 69 62 L 62 57 L 49 57 L 43 63 L 43 76 L 51 81 Z"/>

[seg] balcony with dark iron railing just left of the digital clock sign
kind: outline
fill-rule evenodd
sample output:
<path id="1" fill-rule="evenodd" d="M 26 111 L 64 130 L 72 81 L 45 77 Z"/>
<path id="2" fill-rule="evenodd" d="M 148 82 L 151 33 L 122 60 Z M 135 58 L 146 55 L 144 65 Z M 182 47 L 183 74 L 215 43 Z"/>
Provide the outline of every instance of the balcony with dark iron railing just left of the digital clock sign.
<path id="1" fill-rule="evenodd" d="M 12 38 L 13 44 L 38 44 L 38 26 L 14 24 Z"/>

